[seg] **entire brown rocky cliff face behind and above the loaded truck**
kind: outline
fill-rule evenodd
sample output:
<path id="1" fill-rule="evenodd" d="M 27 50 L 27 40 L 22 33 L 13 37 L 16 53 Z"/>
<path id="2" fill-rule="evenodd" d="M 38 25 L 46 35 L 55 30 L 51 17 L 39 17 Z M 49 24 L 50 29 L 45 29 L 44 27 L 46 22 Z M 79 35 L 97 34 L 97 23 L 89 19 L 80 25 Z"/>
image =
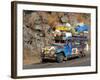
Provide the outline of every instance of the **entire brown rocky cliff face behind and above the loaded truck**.
<path id="1" fill-rule="evenodd" d="M 52 32 L 55 26 L 69 22 L 74 27 L 79 22 L 77 17 L 82 17 L 83 22 L 90 26 L 90 14 L 42 11 L 23 13 L 24 64 L 41 62 L 42 48 L 54 42 Z"/>

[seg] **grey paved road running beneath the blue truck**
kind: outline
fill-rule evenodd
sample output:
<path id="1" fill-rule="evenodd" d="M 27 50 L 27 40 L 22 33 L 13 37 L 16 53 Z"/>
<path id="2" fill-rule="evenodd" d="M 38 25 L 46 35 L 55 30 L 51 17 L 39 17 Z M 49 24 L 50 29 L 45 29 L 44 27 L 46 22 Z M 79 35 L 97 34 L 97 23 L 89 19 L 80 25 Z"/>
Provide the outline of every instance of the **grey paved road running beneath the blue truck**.
<path id="1" fill-rule="evenodd" d="M 90 66 L 90 54 L 87 54 L 83 58 L 71 58 L 64 63 L 56 63 L 52 62 L 45 62 L 41 64 L 31 64 L 31 65 L 24 65 L 24 69 L 34 69 L 34 68 L 56 68 L 56 67 L 75 67 L 75 66 Z"/>

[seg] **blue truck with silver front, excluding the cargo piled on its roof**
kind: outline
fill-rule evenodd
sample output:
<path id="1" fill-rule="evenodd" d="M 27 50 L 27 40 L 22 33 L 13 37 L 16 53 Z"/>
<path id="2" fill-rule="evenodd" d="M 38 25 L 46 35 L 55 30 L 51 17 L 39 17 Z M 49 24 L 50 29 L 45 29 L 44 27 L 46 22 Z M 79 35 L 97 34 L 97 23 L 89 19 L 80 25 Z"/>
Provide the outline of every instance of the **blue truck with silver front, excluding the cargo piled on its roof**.
<path id="1" fill-rule="evenodd" d="M 42 60 L 50 59 L 61 63 L 72 57 L 84 57 L 86 36 L 72 36 L 65 43 L 53 43 L 42 49 Z"/>

